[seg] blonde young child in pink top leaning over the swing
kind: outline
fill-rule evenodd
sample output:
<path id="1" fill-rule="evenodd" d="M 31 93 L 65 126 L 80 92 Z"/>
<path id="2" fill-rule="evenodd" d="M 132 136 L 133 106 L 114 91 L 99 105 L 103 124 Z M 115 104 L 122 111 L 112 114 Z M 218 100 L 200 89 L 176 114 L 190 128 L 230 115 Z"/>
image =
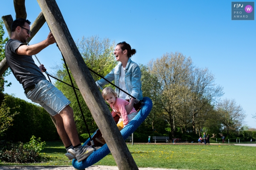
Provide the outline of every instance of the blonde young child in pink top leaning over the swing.
<path id="1" fill-rule="evenodd" d="M 102 96 L 112 108 L 112 116 L 120 116 L 117 123 L 119 130 L 122 130 L 138 114 L 134 107 L 132 108 L 131 112 L 127 113 L 125 106 L 128 105 L 129 102 L 127 100 L 118 98 L 117 93 L 112 88 L 104 88 L 102 91 Z"/>

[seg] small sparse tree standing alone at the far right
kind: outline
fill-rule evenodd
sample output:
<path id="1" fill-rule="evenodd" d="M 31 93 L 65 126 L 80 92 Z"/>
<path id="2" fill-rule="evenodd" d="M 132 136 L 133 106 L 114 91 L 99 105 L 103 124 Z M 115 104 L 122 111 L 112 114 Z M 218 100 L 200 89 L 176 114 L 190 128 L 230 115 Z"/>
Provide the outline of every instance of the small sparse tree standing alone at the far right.
<path id="1" fill-rule="evenodd" d="M 230 131 L 237 131 L 242 127 L 246 117 L 245 111 L 240 105 L 237 105 L 234 99 L 223 99 L 217 104 L 219 120 L 229 135 Z"/>

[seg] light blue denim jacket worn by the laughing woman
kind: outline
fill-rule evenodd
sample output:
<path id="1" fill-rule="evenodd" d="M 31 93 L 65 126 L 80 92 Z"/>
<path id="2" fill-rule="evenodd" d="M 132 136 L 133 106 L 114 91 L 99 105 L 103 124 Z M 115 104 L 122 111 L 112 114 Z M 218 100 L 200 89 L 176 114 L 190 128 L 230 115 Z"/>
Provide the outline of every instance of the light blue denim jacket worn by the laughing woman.
<path id="1" fill-rule="evenodd" d="M 120 76 L 122 66 L 123 64 L 121 62 L 118 62 L 116 67 L 114 67 L 113 70 L 111 70 L 110 73 L 105 76 L 105 79 L 109 80 L 110 82 L 115 80 L 115 85 L 117 87 L 119 87 L 119 76 Z M 141 90 L 141 80 L 140 80 L 141 79 L 140 67 L 138 66 L 138 64 L 133 62 L 131 58 L 129 58 L 124 72 L 125 72 L 124 80 L 125 80 L 126 89 L 129 94 L 131 94 L 133 97 L 137 99 L 136 100 L 137 102 L 135 101 L 135 103 L 138 103 L 138 100 L 143 99 L 142 90 Z M 104 79 L 100 79 L 96 82 L 96 84 L 99 88 L 102 89 L 102 87 L 105 84 L 108 84 L 108 82 Z M 119 96 L 118 88 L 116 88 L 116 92 L 118 93 L 118 96 Z"/>

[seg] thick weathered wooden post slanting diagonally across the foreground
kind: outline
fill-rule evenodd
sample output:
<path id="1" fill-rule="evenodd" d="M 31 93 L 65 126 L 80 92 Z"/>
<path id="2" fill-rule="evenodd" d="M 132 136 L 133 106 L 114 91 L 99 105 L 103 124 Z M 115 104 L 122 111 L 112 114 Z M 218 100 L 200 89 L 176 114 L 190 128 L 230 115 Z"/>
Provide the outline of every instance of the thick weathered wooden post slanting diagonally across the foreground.
<path id="1" fill-rule="evenodd" d="M 119 170 L 138 170 L 128 147 L 76 47 L 55 0 L 37 0 L 53 36 L 111 151 Z M 78 23 L 79 25 L 79 23 Z M 56 47 L 57 48 L 57 47 Z"/>

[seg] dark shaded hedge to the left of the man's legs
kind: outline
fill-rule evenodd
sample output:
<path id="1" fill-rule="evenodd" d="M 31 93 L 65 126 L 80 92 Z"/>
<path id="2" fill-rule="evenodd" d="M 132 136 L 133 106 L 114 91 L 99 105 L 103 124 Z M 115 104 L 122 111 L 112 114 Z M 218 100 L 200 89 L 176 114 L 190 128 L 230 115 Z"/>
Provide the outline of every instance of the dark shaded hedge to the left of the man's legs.
<path id="1" fill-rule="evenodd" d="M 41 106 L 26 102 L 5 94 L 7 106 L 11 112 L 19 112 L 14 116 L 13 126 L 4 133 L 1 139 L 14 142 L 28 142 L 32 135 L 41 138 L 42 141 L 53 141 L 59 139 L 56 127 L 54 126 L 49 113 Z"/>

